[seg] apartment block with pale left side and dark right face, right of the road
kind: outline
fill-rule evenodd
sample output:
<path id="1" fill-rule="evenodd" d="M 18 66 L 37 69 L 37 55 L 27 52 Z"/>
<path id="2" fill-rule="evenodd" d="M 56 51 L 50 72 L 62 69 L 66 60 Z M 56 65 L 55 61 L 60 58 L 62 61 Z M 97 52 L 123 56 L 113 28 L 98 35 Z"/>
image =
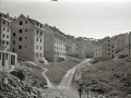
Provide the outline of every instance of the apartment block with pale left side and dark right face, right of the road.
<path id="1" fill-rule="evenodd" d="M 115 58 L 115 40 L 110 37 L 105 37 L 96 41 L 94 46 L 95 59 L 109 59 Z"/>

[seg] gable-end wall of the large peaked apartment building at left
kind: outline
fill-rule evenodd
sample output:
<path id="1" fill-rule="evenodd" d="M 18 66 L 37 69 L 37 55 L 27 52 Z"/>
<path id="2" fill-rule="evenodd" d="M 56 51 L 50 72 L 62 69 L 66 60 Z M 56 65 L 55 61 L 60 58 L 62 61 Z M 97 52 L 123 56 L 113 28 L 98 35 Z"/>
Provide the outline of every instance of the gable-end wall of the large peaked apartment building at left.
<path id="1" fill-rule="evenodd" d="M 34 45 L 34 28 L 26 28 L 27 33 L 25 33 L 25 28 L 23 28 L 23 33 L 19 33 L 21 28 L 12 28 L 11 33 L 11 51 L 16 52 L 19 57 L 35 61 L 35 45 Z M 15 33 L 15 36 L 13 34 Z M 31 36 L 32 35 L 32 36 Z M 20 41 L 20 37 L 22 37 L 22 41 Z M 19 49 L 19 47 L 22 49 Z"/>

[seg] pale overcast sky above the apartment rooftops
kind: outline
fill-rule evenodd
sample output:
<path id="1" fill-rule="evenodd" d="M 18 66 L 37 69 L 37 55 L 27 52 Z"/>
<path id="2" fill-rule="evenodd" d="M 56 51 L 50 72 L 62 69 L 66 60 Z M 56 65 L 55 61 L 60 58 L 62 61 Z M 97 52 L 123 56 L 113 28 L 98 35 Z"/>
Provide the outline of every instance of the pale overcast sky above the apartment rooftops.
<path id="1" fill-rule="evenodd" d="M 0 0 L 2 13 L 24 14 L 75 37 L 104 38 L 131 32 L 131 0 Z"/>

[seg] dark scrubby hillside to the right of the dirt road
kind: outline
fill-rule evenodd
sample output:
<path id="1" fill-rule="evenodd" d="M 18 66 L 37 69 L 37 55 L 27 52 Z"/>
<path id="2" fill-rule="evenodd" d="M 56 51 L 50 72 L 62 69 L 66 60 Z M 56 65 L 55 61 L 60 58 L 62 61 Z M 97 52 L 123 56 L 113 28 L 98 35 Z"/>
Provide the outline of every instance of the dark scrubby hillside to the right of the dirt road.
<path id="1" fill-rule="evenodd" d="M 107 95 L 108 98 L 116 96 L 124 98 L 131 94 L 131 60 L 99 61 L 76 71 L 76 73 L 80 72 L 81 77 L 75 78 L 74 86 L 81 85 L 84 91 L 97 91 Z"/>

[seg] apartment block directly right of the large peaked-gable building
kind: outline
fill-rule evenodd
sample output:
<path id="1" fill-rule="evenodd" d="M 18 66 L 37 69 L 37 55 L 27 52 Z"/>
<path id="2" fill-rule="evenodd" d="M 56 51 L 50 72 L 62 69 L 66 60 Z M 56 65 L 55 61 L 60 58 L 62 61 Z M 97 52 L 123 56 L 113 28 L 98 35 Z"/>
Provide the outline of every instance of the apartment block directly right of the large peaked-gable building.
<path id="1" fill-rule="evenodd" d="M 56 26 L 44 25 L 44 53 L 49 61 L 57 61 L 59 57 L 66 54 L 66 34 L 60 32 Z"/>

